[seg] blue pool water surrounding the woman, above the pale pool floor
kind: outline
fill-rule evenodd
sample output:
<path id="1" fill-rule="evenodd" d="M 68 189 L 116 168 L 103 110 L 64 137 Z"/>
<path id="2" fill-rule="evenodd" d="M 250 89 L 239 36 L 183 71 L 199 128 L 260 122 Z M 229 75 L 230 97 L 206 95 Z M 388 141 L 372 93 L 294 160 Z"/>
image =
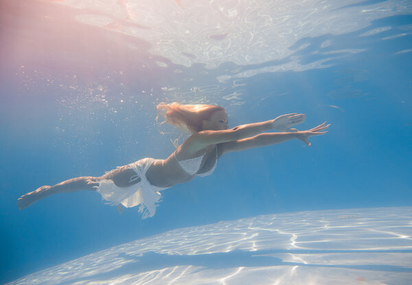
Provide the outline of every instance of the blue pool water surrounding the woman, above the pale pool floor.
<path id="1" fill-rule="evenodd" d="M 155 4 L 0 1 L 0 282 L 181 227 L 411 206 L 410 1 Z M 219 104 L 232 127 L 290 112 L 332 125 L 312 147 L 223 156 L 150 219 L 87 191 L 16 208 L 39 186 L 166 158 L 180 133 L 156 123 L 161 101 Z"/>

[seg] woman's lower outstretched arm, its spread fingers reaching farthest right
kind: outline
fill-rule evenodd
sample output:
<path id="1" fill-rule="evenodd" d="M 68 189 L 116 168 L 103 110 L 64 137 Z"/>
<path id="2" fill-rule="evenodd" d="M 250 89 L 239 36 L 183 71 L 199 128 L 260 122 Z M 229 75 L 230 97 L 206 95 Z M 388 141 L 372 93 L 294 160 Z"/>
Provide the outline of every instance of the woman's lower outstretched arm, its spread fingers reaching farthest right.
<path id="1" fill-rule="evenodd" d="M 314 127 L 312 129 L 308 129 L 306 131 L 297 131 L 297 132 L 281 132 L 281 133 L 263 133 L 258 134 L 257 136 L 253 136 L 251 138 L 244 138 L 242 140 L 233 140 L 228 143 L 222 143 L 220 146 L 222 148 L 222 153 L 227 153 L 231 151 L 242 151 L 245 149 L 251 149 L 253 147 L 264 147 L 266 145 L 275 145 L 277 143 L 283 143 L 287 140 L 292 140 L 293 138 L 297 138 L 308 146 L 311 144 L 308 141 L 308 138 L 311 136 L 319 136 L 325 134 L 330 125 L 326 125 L 323 123 Z"/>

